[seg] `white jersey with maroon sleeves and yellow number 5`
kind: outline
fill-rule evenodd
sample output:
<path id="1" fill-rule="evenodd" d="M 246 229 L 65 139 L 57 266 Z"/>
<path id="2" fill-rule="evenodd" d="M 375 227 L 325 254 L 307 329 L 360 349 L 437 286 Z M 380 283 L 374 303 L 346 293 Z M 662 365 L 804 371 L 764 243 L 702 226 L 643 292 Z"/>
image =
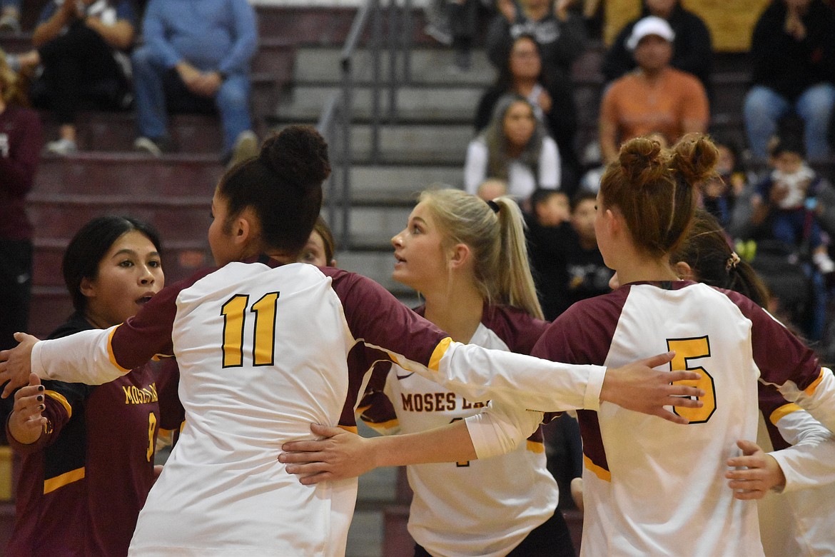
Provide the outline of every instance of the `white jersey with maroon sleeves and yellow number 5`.
<path id="1" fill-rule="evenodd" d="M 620 366 L 675 350 L 701 372 L 702 408 L 682 426 L 601 403 L 579 412 L 583 555 L 762 555 L 757 503 L 733 498 L 726 460 L 757 436 L 757 379 L 835 424 L 835 388 L 811 351 L 734 292 L 688 281 L 634 283 L 581 301 L 534 355 Z M 827 377 L 828 376 L 828 377 Z"/>

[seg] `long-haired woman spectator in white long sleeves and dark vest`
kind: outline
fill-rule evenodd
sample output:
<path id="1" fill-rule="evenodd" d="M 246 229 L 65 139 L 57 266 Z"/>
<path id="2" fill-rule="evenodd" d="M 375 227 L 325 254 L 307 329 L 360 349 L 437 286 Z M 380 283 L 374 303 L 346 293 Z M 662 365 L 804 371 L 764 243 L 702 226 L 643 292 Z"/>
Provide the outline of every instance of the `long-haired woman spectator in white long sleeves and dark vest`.
<path id="1" fill-rule="evenodd" d="M 523 204 L 537 187 L 559 188 L 557 144 L 524 97 L 498 99 L 490 124 L 467 148 L 465 189 L 475 194 L 488 178 L 506 180 L 508 194 Z"/>

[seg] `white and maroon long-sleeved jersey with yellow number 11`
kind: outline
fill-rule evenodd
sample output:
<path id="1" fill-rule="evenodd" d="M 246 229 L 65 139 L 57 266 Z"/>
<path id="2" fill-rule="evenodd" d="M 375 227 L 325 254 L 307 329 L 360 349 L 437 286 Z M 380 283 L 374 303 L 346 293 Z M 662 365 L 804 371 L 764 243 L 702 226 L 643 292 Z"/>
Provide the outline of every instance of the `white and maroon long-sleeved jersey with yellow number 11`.
<path id="1" fill-rule="evenodd" d="M 473 402 L 544 410 L 597 408 L 605 375 L 452 342 L 365 277 L 267 258 L 167 286 L 119 327 L 38 342 L 32 362 L 41 377 L 103 382 L 177 357 L 185 428 L 131 554 L 341 555 L 357 480 L 302 485 L 277 456 L 353 406 L 367 351 Z"/>

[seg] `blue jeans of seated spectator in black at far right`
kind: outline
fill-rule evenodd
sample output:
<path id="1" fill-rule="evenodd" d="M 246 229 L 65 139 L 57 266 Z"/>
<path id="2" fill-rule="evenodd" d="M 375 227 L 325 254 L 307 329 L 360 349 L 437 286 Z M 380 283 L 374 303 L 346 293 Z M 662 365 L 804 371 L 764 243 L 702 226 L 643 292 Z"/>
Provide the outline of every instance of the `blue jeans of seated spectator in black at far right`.
<path id="1" fill-rule="evenodd" d="M 742 112 L 751 154 L 759 160 L 768 158 L 768 140 L 777 133 L 777 120 L 797 114 L 803 120 L 808 160 L 823 160 L 829 153 L 827 130 L 835 104 L 835 85 L 812 85 L 792 105 L 773 89 L 754 85 L 745 96 Z"/>

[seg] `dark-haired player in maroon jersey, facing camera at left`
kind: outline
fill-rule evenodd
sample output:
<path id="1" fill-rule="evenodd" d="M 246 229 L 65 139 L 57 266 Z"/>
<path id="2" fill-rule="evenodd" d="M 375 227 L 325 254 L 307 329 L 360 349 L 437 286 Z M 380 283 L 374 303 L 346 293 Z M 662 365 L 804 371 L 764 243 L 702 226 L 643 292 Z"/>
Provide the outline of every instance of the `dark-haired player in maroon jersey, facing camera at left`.
<path id="1" fill-rule="evenodd" d="M 75 312 L 50 337 L 133 316 L 164 286 L 160 251 L 156 230 L 141 220 L 103 216 L 83 225 L 62 263 Z M 21 456 L 8 557 L 128 554 L 158 473 L 157 435 L 181 421 L 170 364 L 100 386 L 36 379 L 18 390 L 6 424 Z"/>

